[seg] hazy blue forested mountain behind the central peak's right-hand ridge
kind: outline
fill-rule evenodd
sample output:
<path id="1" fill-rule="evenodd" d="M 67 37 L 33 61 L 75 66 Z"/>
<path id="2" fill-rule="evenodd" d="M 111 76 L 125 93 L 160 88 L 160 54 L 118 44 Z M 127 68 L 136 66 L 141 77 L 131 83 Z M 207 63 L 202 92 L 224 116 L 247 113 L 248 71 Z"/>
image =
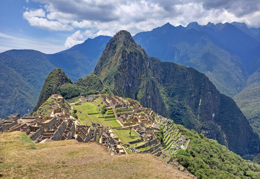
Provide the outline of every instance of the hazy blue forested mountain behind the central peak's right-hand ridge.
<path id="1" fill-rule="evenodd" d="M 248 77 L 242 60 L 226 51 L 223 43 L 199 29 L 200 26 L 197 22 L 187 28 L 167 23 L 133 38 L 149 55 L 193 67 L 205 73 L 220 92 L 233 97 L 243 89 Z M 203 26 L 212 34 L 214 28 Z"/>

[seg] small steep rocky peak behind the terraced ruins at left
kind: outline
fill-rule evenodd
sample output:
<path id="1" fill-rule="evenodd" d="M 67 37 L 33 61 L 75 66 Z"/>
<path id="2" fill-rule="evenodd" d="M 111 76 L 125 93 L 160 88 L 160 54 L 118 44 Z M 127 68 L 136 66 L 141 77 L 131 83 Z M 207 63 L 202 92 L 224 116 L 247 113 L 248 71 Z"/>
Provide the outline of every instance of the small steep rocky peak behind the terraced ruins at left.
<path id="1" fill-rule="evenodd" d="M 58 93 L 58 87 L 65 83 L 73 84 L 72 80 L 68 78 L 64 71 L 61 71 L 60 68 L 55 68 L 51 71 L 44 81 L 35 109 L 37 110 L 42 103 L 51 96 L 51 94 Z"/>

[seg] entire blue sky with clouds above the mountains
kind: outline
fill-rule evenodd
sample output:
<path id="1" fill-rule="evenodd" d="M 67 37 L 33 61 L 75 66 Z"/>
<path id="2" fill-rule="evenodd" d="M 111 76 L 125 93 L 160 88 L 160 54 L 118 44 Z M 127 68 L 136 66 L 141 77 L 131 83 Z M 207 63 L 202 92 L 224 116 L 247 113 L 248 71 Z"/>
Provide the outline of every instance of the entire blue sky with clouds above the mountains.
<path id="1" fill-rule="evenodd" d="M 0 52 L 52 54 L 99 35 L 132 36 L 167 22 L 260 26 L 259 0 L 0 0 Z"/>

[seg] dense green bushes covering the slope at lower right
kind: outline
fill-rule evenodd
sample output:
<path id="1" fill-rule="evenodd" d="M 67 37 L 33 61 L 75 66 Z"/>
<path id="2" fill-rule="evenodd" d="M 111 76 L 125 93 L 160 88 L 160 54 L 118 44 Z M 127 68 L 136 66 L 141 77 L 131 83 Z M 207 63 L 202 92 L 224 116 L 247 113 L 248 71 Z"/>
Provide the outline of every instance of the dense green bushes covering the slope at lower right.
<path id="1" fill-rule="evenodd" d="M 260 165 L 242 159 L 216 140 L 177 126 L 191 143 L 189 149 L 177 151 L 175 160 L 198 178 L 259 178 Z"/>

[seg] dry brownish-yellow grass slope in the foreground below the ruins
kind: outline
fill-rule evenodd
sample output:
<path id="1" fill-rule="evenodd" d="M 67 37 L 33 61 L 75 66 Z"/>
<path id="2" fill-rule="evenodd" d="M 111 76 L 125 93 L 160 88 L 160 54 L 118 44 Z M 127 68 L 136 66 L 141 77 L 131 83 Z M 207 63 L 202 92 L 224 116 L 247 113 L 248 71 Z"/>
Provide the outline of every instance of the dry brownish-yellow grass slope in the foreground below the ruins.
<path id="1" fill-rule="evenodd" d="M 0 134 L 0 178 L 189 178 L 151 154 L 114 155 L 97 142 L 34 144 L 23 132 Z"/>

